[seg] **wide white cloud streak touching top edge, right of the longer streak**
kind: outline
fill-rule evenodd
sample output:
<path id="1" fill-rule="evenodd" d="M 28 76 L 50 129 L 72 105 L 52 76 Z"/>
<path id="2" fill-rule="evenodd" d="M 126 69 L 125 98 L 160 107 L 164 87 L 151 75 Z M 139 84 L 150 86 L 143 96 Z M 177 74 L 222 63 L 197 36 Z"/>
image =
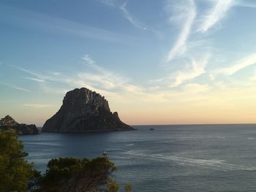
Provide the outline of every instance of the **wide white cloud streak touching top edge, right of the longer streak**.
<path id="1" fill-rule="evenodd" d="M 225 18 L 227 11 L 234 4 L 234 0 L 216 0 L 214 6 L 203 16 L 203 21 L 197 31 L 206 33 L 206 31 Z"/>

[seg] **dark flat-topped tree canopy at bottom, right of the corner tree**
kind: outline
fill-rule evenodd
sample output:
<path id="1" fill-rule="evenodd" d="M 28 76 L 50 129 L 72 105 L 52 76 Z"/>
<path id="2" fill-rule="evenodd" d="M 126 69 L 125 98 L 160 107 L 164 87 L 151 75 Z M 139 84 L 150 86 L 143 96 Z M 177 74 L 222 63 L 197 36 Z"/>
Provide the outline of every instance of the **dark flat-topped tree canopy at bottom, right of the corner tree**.
<path id="1" fill-rule="evenodd" d="M 116 166 L 106 157 L 53 158 L 48 163 L 48 170 L 42 176 L 39 191 L 97 191 L 105 185 Z"/>

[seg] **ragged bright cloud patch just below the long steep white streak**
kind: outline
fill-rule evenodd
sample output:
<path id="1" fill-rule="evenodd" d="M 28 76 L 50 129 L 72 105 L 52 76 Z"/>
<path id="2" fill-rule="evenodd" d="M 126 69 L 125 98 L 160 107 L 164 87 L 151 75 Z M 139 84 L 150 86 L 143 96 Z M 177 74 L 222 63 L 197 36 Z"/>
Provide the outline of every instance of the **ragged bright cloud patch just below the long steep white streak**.
<path id="1" fill-rule="evenodd" d="M 192 80 L 195 77 L 199 77 L 201 74 L 204 74 L 206 72 L 205 66 L 208 63 L 209 58 L 210 55 L 206 55 L 201 61 L 195 61 L 192 59 L 191 64 L 187 69 L 170 74 L 170 79 L 175 80 L 170 87 L 176 87 L 187 80 Z"/>

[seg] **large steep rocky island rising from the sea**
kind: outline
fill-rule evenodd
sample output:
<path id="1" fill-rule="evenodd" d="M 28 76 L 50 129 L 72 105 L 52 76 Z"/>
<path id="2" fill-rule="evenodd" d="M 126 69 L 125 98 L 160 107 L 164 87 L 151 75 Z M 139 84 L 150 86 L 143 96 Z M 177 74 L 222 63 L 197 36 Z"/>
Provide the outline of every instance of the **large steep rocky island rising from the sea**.
<path id="1" fill-rule="evenodd" d="M 58 112 L 48 119 L 45 132 L 128 131 L 134 128 L 121 122 L 117 112 L 111 112 L 108 101 L 87 88 L 67 92 Z"/>

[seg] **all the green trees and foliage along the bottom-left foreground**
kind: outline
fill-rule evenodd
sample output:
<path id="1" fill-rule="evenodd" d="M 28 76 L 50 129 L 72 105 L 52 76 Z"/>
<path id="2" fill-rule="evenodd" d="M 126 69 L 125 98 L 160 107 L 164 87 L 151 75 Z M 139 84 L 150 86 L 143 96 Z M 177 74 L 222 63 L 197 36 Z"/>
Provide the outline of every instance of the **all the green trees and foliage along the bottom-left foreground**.
<path id="1" fill-rule="evenodd" d="M 117 192 L 118 184 L 111 179 L 116 166 L 108 157 L 53 158 L 45 174 L 33 169 L 24 160 L 23 143 L 14 131 L 0 129 L 0 192 Z M 28 183 L 30 183 L 28 185 Z M 125 192 L 132 191 L 127 184 Z"/>

